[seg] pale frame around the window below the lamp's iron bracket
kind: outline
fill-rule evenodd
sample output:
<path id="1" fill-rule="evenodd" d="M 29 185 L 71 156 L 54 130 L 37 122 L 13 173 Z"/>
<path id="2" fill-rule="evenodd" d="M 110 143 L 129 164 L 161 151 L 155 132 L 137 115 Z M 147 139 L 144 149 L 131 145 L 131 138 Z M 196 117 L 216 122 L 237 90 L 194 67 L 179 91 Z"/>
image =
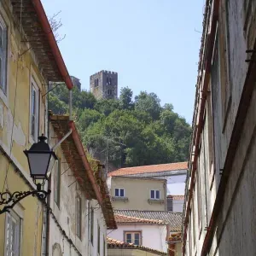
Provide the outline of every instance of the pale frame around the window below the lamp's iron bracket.
<path id="1" fill-rule="evenodd" d="M 15 221 L 17 222 L 19 228 L 18 230 L 16 230 L 16 236 L 18 235 L 18 240 L 19 241 L 15 241 L 17 242 L 17 244 L 15 245 L 15 255 L 14 256 L 20 256 L 21 255 L 21 251 L 22 251 L 22 243 L 21 243 L 21 234 L 22 234 L 22 218 L 20 216 L 20 214 L 18 214 L 17 212 L 14 212 L 13 210 L 11 210 L 10 212 L 6 212 L 6 216 L 5 216 L 5 234 L 4 234 L 4 256 L 6 255 L 9 255 L 7 254 L 8 253 L 8 242 L 7 242 L 7 239 L 8 239 L 8 220 L 9 218 L 12 218 L 12 219 L 15 219 Z M 9 252 L 10 253 L 10 252 Z"/>

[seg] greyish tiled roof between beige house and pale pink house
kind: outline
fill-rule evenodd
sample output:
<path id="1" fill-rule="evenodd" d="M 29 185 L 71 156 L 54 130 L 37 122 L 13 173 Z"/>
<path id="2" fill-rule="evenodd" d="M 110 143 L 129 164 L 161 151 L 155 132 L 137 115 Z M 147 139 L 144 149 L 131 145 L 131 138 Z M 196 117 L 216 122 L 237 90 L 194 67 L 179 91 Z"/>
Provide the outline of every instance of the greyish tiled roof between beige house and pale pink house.
<path id="1" fill-rule="evenodd" d="M 170 211 L 138 211 L 138 210 L 114 210 L 115 215 L 128 217 L 163 220 L 169 224 L 170 231 L 179 232 L 182 230 L 183 214 Z"/>

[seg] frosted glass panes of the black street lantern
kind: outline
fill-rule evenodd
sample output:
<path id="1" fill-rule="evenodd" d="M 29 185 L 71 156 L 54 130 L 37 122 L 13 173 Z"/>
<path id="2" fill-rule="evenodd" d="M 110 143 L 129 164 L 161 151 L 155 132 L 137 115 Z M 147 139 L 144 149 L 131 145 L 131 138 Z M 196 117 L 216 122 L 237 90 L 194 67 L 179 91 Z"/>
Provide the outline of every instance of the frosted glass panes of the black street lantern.
<path id="1" fill-rule="evenodd" d="M 27 159 L 30 167 L 31 176 L 34 179 L 44 179 L 49 166 L 51 152 L 28 153 Z"/>

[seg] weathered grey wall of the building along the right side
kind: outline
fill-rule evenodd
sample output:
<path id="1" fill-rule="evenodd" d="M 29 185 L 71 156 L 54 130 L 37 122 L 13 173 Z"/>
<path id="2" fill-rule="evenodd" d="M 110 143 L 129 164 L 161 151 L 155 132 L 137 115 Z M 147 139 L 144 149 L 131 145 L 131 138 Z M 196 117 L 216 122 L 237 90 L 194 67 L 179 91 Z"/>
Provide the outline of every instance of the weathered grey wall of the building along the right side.
<path id="1" fill-rule="evenodd" d="M 252 61 L 246 62 L 252 58 L 246 51 L 256 44 L 256 4 L 220 0 L 215 17 L 212 9 L 204 38 L 207 44 L 202 44 L 203 52 L 209 51 L 213 33 L 212 51 L 207 53 L 211 67 L 207 71 L 207 64 L 201 66 L 196 89 L 187 183 L 191 200 L 187 196 L 183 249 L 185 255 L 193 256 L 255 255 L 256 67 Z M 212 31 L 216 17 L 217 28 Z M 207 92 L 202 91 L 203 84 L 207 84 Z M 253 92 L 247 100 L 243 96 L 249 88 Z M 243 114 L 241 106 L 248 108 Z M 234 136 L 234 131 L 239 133 Z"/>

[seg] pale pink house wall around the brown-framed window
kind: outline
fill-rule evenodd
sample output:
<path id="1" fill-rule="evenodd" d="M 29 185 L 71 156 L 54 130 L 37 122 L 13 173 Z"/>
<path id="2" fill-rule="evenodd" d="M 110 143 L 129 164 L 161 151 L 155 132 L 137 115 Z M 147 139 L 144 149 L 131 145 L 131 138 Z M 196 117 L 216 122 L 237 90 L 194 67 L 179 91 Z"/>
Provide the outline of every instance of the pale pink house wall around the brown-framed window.
<path id="1" fill-rule="evenodd" d="M 113 230 L 109 236 L 119 241 L 125 241 L 125 231 L 141 231 L 142 245 L 155 250 L 167 252 L 166 225 L 157 224 L 130 224 L 119 225 L 117 230 Z"/>

